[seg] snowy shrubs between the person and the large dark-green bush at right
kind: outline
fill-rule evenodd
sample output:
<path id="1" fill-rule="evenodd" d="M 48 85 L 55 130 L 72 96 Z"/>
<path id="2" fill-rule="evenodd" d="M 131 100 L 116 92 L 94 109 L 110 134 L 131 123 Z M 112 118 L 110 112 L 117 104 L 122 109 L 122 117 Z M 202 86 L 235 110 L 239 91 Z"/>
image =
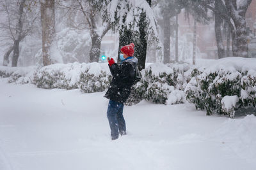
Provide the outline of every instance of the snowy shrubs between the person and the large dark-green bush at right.
<path id="1" fill-rule="evenodd" d="M 184 103 L 184 72 L 188 69 L 188 64 L 151 64 L 142 71 L 141 81 L 132 87 L 126 104 L 136 104 L 141 99 L 161 104 Z"/>

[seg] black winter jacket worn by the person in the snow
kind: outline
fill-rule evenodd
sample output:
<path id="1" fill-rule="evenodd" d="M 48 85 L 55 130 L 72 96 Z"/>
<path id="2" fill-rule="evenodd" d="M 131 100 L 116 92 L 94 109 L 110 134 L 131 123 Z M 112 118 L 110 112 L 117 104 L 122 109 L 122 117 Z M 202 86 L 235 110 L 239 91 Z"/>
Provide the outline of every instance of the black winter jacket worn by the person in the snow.
<path id="1" fill-rule="evenodd" d="M 131 59 L 124 60 L 120 66 L 116 63 L 112 64 L 111 67 L 109 66 L 113 78 L 104 97 L 111 101 L 125 103 L 131 94 L 137 63 L 138 59 L 132 57 Z"/>

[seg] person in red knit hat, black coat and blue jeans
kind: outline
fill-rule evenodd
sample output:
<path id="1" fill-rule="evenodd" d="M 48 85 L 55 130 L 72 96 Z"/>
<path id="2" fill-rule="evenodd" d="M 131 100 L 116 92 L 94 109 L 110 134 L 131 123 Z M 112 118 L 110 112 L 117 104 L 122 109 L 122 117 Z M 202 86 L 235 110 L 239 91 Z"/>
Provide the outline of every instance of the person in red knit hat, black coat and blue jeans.
<path id="1" fill-rule="evenodd" d="M 115 140 L 119 134 L 126 134 L 126 125 L 123 116 L 124 103 L 131 94 L 131 87 L 136 76 L 136 65 L 138 59 L 134 55 L 134 44 L 125 45 L 121 48 L 120 65 L 115 63 L 113 58 L 109 59 L 109 69 L 113 76 L 109 89 L 105 96 L 109 99 L 108 121 L 111 130 L 111 139 Z"/>

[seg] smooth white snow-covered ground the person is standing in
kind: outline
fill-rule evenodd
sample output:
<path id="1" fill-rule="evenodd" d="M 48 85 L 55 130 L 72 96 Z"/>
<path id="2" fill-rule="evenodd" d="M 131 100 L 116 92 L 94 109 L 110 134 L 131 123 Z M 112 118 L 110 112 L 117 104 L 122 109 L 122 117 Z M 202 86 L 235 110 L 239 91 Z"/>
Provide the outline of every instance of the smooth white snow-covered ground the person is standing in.
<path id="1" fill-rule="evenodd" d="M 111 141 L 104 92 L 38 89 L 0 79 L 0 169 L 255 169 L 256 117 L 193 104 L 125 106 Z"/>

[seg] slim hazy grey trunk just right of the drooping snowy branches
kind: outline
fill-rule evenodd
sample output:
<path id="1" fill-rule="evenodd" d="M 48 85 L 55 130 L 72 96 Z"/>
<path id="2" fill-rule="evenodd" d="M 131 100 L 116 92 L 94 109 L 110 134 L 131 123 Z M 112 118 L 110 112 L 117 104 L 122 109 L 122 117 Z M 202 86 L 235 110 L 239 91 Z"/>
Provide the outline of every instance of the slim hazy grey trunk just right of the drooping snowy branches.
<path id="1" fill-rule="evenodd" d="M 170 62 L 170 36 L 171 36 L 171 25 L 170 17 L 168 15 L 163 16 L 164 19 L 164 64 Z"/>

